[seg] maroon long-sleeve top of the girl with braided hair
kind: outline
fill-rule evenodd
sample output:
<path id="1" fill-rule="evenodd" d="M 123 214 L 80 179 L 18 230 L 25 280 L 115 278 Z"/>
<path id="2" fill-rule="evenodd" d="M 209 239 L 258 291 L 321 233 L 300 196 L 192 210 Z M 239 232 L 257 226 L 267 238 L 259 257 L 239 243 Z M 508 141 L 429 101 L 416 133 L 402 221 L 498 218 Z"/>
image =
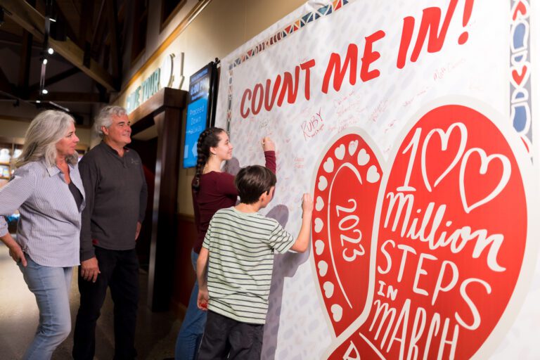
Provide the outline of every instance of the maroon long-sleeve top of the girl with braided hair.
<path id="1" fill-rule="evenodd" d="M 276 152 L 265 151 L 266 167 L 276 173 Z M 219 209 L 236 205 L 238 191 L 234 186 L 234 176 L 227 172 L 207 172 L 199 180 L 199 191 L 193 195 L 193 210 L 195 212 L 195 226 L 197 239 L 193 251 L 197 254 L 203 246 L 208 224 Z"/>

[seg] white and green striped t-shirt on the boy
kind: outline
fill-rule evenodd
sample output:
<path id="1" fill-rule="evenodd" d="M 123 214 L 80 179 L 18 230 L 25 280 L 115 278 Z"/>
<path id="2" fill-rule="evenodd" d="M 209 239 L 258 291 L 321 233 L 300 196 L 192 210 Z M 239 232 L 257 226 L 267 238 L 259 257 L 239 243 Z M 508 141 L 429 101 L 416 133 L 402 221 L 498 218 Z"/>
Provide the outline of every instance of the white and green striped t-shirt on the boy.
<path id="1" fill-rule="evenodd" d="M 214 214 L 203 248 L 209 251 L 208 309 L 243 323 L 264 324 L 274 250 L 295 243 L 278 221 L 234 207 Z"/>

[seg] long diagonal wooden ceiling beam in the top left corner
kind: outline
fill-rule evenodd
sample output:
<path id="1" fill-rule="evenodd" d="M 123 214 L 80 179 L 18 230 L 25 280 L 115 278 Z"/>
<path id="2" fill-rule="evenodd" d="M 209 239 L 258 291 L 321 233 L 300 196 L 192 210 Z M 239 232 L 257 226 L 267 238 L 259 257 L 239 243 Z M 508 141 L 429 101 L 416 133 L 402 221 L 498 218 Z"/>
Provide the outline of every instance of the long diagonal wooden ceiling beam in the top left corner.
<path id="1" fill-rule="evenodd" d="M 32 8 L 26 1 L 18 0 L 0 0 L 0 6 L 9 11 L 11 19 L 25 28 L 34 37 L 43 38 L 45 31 L 45 18 L 35 8 Z M 109 91 L 117 91 L 113 76 L 110 75 L 95 60 L 90 60 L 89 66 L 83 65 L 84 51 L 73 41 L 56 41 L 49 39 L 49 44 L 60 56 L 63 56 L 70 63 L 82 70 L 86 75 L 96 80 L 96 82 L 105 86 Z"/>

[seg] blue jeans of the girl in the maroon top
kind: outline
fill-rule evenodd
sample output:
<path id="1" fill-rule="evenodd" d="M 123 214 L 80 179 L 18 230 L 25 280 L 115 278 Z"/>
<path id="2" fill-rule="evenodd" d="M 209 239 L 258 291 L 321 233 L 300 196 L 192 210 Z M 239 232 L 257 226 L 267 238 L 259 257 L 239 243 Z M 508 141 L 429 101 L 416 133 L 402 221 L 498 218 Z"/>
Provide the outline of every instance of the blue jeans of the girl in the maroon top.
<path id="1" fill-rule="evenodd" d="M 191 264 L 193 264 L 195 272 L 197 271 L 198 257 L 199 255 L 191 250 Z M 176 349 L 174 349 L 174 359 L 176 360 L 196 359 L 200 339 L 203 338 L 206 323 L 206 311 L 202 311 L 197 307 L 198 294 L 199 285 L 195 279 L 186 316 L 184 317 L 184 321 L 182 321 L 178 338 L 176 338 Z"/>

